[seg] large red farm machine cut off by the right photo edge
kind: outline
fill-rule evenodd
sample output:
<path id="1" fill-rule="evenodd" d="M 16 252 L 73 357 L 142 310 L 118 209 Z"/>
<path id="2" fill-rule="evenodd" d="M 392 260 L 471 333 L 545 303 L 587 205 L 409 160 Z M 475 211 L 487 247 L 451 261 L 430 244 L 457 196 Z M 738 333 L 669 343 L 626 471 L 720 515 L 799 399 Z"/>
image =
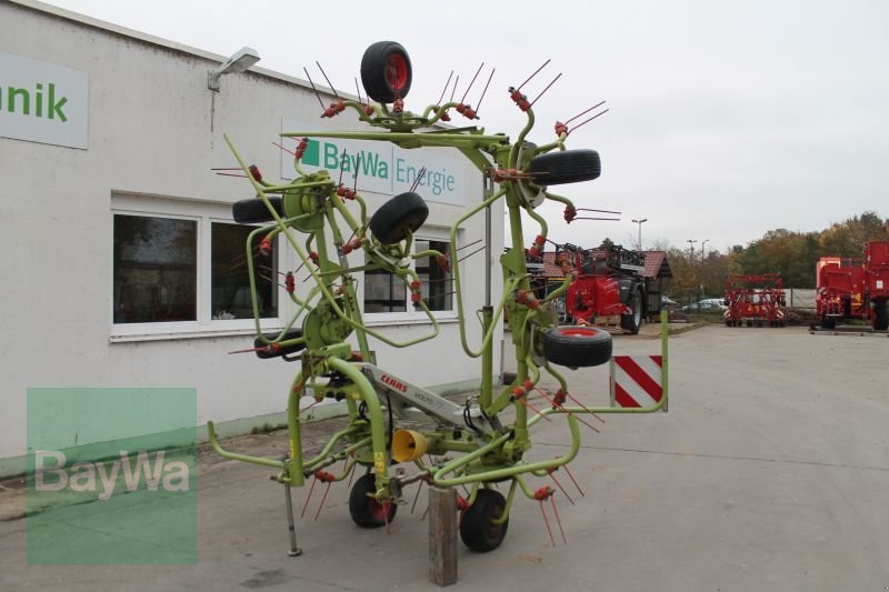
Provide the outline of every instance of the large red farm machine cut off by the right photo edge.
<path id="1" fill-rule="evenodd" d="M 889 242 L 866 242 L 863 259 L 822 257 L 816 269 L 816 311 L 823 329 L 847 319 L 869 319 L 875 330 L 889 329 Z"/>

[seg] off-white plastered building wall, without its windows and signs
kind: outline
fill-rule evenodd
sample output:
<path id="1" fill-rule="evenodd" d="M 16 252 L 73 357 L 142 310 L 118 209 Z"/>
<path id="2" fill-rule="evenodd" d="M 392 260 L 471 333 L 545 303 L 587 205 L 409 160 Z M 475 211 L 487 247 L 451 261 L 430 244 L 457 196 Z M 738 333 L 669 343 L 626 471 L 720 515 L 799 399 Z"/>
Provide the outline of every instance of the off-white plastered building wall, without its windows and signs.
<path id="1" fill-rule="evenodd" d="M 26 453 L 29 387 L 196 387 L 201 424 L 282 411 L 298 364 L 229 355 L 252 345 L 249 328 L 208 322 L 188 333 L 149 337 L 114 330 L 112 212 L 193 210 L 224 219 L 231 202 L 253 192 L 246 179 L 210 171 L 236 165 L 222 134 L 267 177 L 277 178 L 280 152 L 272 142 L 281 121 L 318 120 L 317 98 L 300 81 L 257 68 L 222 77 L 220 91 L 211 92 L 207 72 L 224 57 L 29 4 L 0 4 L 0 52 L 89 73 L 89 143 L 81 150 L 0 138 L 0 459 Z M 360 57 L 352 58 L 357 67 Z M 409 101 L 411 107 L 424 104 Z M 330 127 L 361 129 L 348 111 Z M 479 188 L 466 195 L 466 203 L 477 203 L 481 177 L 468 161 L 459 162 L 460 174 L 472 180 L 468 187 Z M 389 195 L 367 199 L 373 211 Z M 427 225 L 440 231 L 465 211 L 429 205 Z M 492 220 L 496 258 L 503 243 L 501 208 Z M 461 233 L 467 242 L 482 239 L 483 217 L 467 222 Z M 297 267 L 292 253 L 282 257 L 281 269 Z M 483 265 L 478 254 L 461 271 L 483 278 Z M 495 302 L 498 277 L 499 271 Z M 298 288 L 310 285 L 301 279 Z M 468 339 L 476 347 L 481 335 L 475 311 L 482 304 L 482 288 L 480 281 L 466 287 Z M 414 320 L 372 324 L 397 339 L 430 329 Z M 499 348 L 500 338 L 495 342 Z M 371 339 L 371 349 L 380 365 L 409 382 L 463 389 L 478 382 L 481 367 L 459 343 L 451 320 L 442 321 L 440 335 L 423 344 L 397 350 Z M 498 349 L 496 368 L 499 360 Z"/>

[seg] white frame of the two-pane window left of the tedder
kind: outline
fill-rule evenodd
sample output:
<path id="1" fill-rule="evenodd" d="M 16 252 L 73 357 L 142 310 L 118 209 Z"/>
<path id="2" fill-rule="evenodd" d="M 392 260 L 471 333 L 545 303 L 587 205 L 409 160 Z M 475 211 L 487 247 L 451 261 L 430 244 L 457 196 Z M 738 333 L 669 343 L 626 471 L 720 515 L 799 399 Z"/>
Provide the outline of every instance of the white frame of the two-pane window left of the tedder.
<path id="1" fill-rule="evenodd" d="M 189 220 L 197 224 L 197 279 L 196 279 L 196 320 L 194 321 L 161 321 L 142 323 L 116 323 L 113 310 L 114 290 L 114 217 L 132 215 L 144 218 L 167 218 L 173 220 Z M 109 211 L 110 249 L 109 264 L 111 268 L 109 285 L 109 341 L 153 341 L 164 339 L 216 338 L 224 335 L 242 335 L 256 332 L 252 318 L 247 319 L 213 319 L 212 314 L 212 224 L 236 224 L 231 218 L 231 203 L 210 200 L 186 200 L 158 198 L 152 195 L 112 193 Z M 243 225 L 243 224 L 237 224 Z M 261 224 L 256 224 L 259 227 Z M 280 241 L 278 241 L 280 244 Z M 289 269 L 290 255 L 287 249 L 278 252 L 278 269 Z M 278 317 L 260 319 L 260 328 L 269 331 L 280 330 L 284 325 L 290 310 L 290 299 L 287 292 L 278 287 Z"/>

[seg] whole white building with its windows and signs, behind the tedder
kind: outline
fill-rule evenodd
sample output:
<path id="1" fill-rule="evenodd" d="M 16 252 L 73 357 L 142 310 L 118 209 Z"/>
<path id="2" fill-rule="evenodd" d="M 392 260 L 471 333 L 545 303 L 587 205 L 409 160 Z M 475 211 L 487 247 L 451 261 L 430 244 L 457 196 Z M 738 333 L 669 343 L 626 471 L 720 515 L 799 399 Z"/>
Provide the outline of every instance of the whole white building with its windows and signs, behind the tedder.
<path id="1" fill-rule="evenodd" d="M 282 420 L 299 364 L 229 355 L 253 341 L 243 280 L 248 227 L 231 219 L 231 203 L 253 191 L 246 179 L 211 169 L 237 165 L 223 133 L 274 180 L 292 171 L 272 143 L 282 129 L 362 128 L 349 111 L 320 119 L 307 82 L 258 67 L 223 76 L 219 91 L 210 90 L 208 72 L 226 59 L 39 2 L 0 3 L 0 474 L 24 469 L 28 388 L 194 387 L 198 423 L 214 420 L 222 434 Z M 350 59 L 357 71 L 361 56 Z M 411 99 L 427 98 L 408 99 L 408 109 L 426 107 Z M 362 149 L 336 141 L 317 148 L 319 165 L 326 154 Z M 397 174 L 407 177 L 423 159 L 453 175 L 451 188 L 419 190 L 430 215 L 418 237 L 433 244 L 481 199 L 480 173 L 457 151 L 363 149 L 390 159 L 388 185 L 358 178 L 371 211 L 404 191 Z M 499 253 L 502 202 L 491 218 Z M 483 215 L 471 219 L 460 242 L 483 239 Z M 483 278 L 483 254 L 462 265 L 466 278 Z M 278 250 L 278 271 L 297 267 L 292 252 Z M 298 290 L 310 285 L 303 278 Z M 497 302 L 499 268 L 493 278 Z M 386 278 L 358 279 L 369 325 L 400 340 L 429 332 L 403 290 Z M 480 280 L 466 287 L 471 344 L 481 340 L 475 311 L 482 288 Z M 267 298 L 266 327 L 280 328 L 292 304 L 278 287 Z M 440 392 L 478 388 L 481 364 L 460 347 L 453 298 L 442 295 L 437 308 L 434 340 L 393 349 L 371 339 L 378 364 Z M 499 348 L 500 338 L 495 342 Z M 496 369 L 499 360 L 498 350 Z"/>

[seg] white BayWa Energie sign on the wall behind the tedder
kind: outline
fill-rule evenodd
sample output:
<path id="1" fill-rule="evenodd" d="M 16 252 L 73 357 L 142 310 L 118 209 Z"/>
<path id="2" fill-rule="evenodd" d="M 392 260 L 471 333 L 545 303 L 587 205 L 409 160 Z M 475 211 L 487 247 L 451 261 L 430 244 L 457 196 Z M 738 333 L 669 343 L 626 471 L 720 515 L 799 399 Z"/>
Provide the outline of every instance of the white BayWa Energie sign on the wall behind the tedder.
<path id="1" fill-rule="evenodd" d="M 318 130 L 318 124 L 288 119 L 282 121 L 282 131 Z M 298 143 L 299 139 L 283 138 L 282 146 L 290 152 L 281 151 L 283 179 L 294 175 L 292 152 Z M 465 205 L 466 193 L 473 188 L 468 187 L 468 168 L 461 159 L 459 154 L 450 157 L 437 150 L 404 150 L 390 142 L 310 137 L 301 165 L 310 172 L 327 169 L 334 180 L 342 171 L 342 182 L 349 187 L 354 187 L 358 174 L 359 192 L 386 195 L 408 191 L 424 168 L 414 191 L 428 201 Z M 478 183 L 480 188 L 481 181 Z"/>

